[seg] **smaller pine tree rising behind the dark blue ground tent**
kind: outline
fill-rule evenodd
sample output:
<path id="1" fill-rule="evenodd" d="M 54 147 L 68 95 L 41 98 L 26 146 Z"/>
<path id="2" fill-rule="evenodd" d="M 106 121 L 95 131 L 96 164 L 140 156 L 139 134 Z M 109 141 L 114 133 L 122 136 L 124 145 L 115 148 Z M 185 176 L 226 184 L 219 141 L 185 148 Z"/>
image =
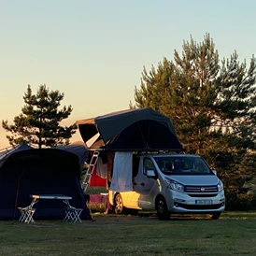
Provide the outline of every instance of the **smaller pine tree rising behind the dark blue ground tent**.
<path id="1" fill-rule="evenodd" d="M 50 91 L 46 85 L 40 85 L 36 94 L 28 85 L 23 96 L 25 106 L 21 108 L 22 113 L 14 118 L 14 124 L 2 121 L 3 128 L 12 134 L 7 135 L 10 145 L 25 142 L 40 149 L 69 144 L 77 126 L 75 123 L 65 127 L 60 125 L 73 110 L 71 106 L 59 110 L 63 99 L 64 93 Z"/>

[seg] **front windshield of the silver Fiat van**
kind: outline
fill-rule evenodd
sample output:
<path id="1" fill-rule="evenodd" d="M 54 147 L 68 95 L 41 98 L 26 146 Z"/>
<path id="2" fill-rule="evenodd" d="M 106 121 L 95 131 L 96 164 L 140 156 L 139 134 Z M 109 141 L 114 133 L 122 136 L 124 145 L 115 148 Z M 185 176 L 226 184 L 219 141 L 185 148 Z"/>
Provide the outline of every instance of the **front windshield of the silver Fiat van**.
<path id="1" fill-rule="evenodd" d="M 154 160 L 164 175 L 214 175 L 201 156 L 155 156 Z"/>

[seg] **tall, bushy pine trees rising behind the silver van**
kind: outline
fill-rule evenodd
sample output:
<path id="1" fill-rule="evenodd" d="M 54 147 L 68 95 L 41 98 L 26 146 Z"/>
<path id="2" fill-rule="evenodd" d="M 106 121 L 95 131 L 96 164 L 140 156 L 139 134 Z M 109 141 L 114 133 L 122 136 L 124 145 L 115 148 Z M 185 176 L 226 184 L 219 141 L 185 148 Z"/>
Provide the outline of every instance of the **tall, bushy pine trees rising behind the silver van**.
<path id="1" fill-rule="evenodd" d="M 203 155 L 227 191 L 242 198 L 256 167 L 256 60 L 252 56 L 247 69 L 235 51 L 220 62 L 209 34 L 199 44 L 191 36 L 182 47 L 173 61 L 164 58 L 149 72 L 144 67 L 130 107 L 152 107 L 169 117 L 186 152 Z"/>

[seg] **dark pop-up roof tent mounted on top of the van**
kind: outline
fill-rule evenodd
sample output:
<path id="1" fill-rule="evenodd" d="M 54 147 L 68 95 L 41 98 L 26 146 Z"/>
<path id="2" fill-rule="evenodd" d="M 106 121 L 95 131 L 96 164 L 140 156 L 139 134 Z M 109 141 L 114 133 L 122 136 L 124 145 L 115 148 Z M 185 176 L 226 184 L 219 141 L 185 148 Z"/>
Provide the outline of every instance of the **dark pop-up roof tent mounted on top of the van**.
<path id="1" fill-rule="evenodd" d="M 150 107 L 127 109 L 77 121 L 89 149 L 116 151 L 183 151 L 172 121 Z"/>

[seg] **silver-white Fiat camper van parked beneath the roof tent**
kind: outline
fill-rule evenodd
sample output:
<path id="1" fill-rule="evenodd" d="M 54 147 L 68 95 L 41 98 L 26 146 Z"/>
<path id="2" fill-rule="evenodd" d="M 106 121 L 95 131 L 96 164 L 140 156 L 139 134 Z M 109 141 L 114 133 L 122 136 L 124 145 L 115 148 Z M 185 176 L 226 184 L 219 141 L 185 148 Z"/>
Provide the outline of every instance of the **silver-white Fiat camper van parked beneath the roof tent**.
<path id="1" fill-rule="evenodd" d="M 169 220 L 172 213 L 220 218 L 225 208 L 223 184 L 201 156 L 146 153 L 133 155 L 132 162 L 131 191 L 110 186 L 109 202 L 117 214 L 155 209 L 160 220 Z"/>

